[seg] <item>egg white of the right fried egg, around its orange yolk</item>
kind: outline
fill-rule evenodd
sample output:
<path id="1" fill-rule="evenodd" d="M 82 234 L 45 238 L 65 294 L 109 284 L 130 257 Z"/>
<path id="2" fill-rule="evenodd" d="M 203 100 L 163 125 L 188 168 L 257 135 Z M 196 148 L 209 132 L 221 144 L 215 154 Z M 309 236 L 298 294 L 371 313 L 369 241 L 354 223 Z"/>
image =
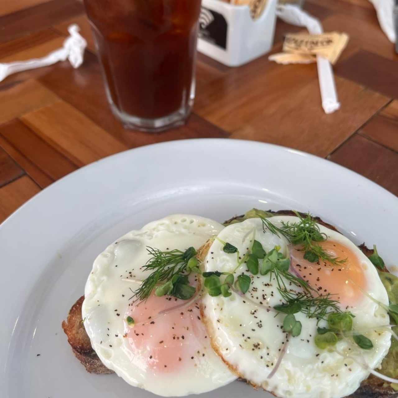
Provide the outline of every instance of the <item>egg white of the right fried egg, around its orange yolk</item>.
<path id="1" fill-rule="evenodd" d="M 298 221 L 297 217 L 277 216 L 269 220 L 277 226 L 281 221 Z M 388 296 L 377 271 L 369 259 L 343 235 L 320 225 L 320 232 L 329 239 L 348 246 L 359 258 L 367 280 L 367 292 L 375 299 L 388 305 Z M 289 253 L 285 238 L 263 231 L 260 219 L 248 219 L 224 228 L 218 238 L 236 246 L 241 255 L 246 253 L 253 238 L 258 240 L 265 251 L 275 245 L 281 246 L 281 252 Z M 231 272 L 237 265 L 236 254 L 226 254 L 222 243 L 215 240 L 205 260 L 206 271 Z M 242 264 L 235 273 L 250 275 Z M 252 284 L 244 297 L 232 293 L 230 297 L 211 297 L 202 300 L 203 313 L 211 335 L 213 347 L 237 375 L 255 386 L 278 397 L 288 398 L 341 398 L 352 394 L 362 380 L 369 376 L 369 370 L 375 369 L 387 354 L 391 334 L 388 330 L 370 330 L 363 332 L 373 341 L 373 349 L 362 350 L 346 340 L 337 343 L 336 349 L 347 353 L 365 363 L 365 367 L 339 353 L 320 350 L 314 344 L 317 324 L 315 319 L 305 314 L 295 314 L 302 323 L 300 336 L 289 337 L 286 354 L 273 377 L 268 378 L 286 344 L 283 332 L 283 314 L 276 314 L 266 307 L 281 303 L 276 289 L 276 281 L 269 275 L 251 275 Z M 380 325 L 388 325 L 387 312 L 364 295 L 363 300 L 349 310 L 355 315 L 353 328 L 367 330 Z M 321 321 L 318 326 L 326 326 Z M 356 355 L 356 354 L 355 354 Z"/>

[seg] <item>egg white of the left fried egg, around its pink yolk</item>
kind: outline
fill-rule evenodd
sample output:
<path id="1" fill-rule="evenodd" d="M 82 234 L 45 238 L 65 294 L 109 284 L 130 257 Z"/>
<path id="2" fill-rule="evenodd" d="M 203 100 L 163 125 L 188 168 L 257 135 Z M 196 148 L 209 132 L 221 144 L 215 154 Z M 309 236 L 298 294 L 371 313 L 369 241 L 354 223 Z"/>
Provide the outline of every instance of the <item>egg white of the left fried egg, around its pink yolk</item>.
<path id="1" fill-rule="evenodd" d="M 149 275 L 150 271 L 140 269 L 149 258 L 146 246 L 160 250 L 185 250 L 190 246 L 198 249 L 222 228 L 218 222 L 203 217 L 171 215 L 125 234 L 94 261 L 84 292 L 84 326 L 104 365 L 132 386 L 161 396 L 183 396 L 207 392 L 236 379 L 211 349 L 209 339 L 203 341 L 205 358 L 159 375 L 146 369 L 123 338 L 123 314 L 131 302 L 131 291 L 139 284 L 122 279 L 143 280 Z"/>

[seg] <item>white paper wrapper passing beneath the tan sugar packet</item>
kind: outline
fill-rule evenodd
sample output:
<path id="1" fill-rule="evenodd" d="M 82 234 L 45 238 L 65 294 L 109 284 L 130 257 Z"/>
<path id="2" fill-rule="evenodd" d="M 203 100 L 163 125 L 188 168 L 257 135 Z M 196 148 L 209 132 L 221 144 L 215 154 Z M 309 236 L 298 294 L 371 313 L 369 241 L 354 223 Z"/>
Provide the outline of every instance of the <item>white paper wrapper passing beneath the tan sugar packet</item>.
<path id="1" fill-rule="evenodd" d="M 277 8 L 277 16 L 292 25 L 306 27 L 312 35 L 319 35 L 323 32 L 320 21 L 297 6 L 291 4 L 281 5 Z M 339 109 L 340 103 L 337 98 L 332 66 L 326 58 L 319 55 L 316 56 L 316 63 L 318 66 L 322 107 L 325 113 L 333 113 Z"/>

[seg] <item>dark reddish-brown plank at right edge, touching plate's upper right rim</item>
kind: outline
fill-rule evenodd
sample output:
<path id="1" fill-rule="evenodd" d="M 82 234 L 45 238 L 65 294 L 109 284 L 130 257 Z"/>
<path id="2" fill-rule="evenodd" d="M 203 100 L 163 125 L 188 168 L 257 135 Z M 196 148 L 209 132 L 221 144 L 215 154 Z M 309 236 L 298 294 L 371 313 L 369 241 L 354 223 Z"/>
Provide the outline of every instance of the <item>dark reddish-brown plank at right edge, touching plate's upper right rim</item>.
<path id="1" fill-rule="evenodd" d="M 355 135 L 328 158 L 398 195 L 398 153 Z"/>

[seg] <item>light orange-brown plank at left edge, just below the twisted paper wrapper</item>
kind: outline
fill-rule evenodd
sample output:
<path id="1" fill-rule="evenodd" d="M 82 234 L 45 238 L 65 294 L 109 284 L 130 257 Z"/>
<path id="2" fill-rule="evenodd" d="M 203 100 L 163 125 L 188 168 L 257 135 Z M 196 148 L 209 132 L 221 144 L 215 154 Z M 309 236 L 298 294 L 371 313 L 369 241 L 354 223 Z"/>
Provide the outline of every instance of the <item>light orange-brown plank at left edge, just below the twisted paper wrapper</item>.
<path id="1" fill-rule="evenodd" d="M 35 80 L 0 87 L 0 124 L 59 101 L 53 92 Z"/>

